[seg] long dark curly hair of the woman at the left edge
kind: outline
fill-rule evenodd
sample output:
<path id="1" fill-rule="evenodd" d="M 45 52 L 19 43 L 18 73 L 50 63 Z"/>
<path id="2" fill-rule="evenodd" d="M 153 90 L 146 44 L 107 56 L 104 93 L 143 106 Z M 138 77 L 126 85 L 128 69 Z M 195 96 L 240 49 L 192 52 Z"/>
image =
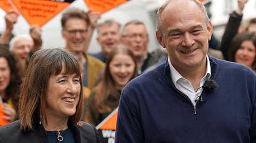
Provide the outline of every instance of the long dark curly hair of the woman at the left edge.
<path id="1" fill-rule="evenodd" d="M 4 101 L 7 102 L 8 99 L 12 99 L 15 110 L 18 110 L 16 107 L 18 103 L 18 89 L 21 84 L 22 71 L 20 69 L 20 64 L 17 61 L 16 56 L 9 51 L 6 46 L 0 45 L 0 57 L 3 57 L 7 60 L 8 66 L 11 71 L 10 83 L 5 89 L 5 98 Z"/>

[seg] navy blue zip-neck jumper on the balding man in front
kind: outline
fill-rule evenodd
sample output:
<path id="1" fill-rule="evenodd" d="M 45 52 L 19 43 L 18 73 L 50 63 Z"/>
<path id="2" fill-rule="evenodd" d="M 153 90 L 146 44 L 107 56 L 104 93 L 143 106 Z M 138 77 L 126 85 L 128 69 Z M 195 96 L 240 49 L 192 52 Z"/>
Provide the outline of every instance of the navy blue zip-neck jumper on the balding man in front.
<path id="1" fill-rule="evenodd" d="M 118 142 L 256 142 L 256 74 L 210 57 L 218 87 L 203 89 L 196 106 L 173 85 L 166 60 L 122 91 Z"/>

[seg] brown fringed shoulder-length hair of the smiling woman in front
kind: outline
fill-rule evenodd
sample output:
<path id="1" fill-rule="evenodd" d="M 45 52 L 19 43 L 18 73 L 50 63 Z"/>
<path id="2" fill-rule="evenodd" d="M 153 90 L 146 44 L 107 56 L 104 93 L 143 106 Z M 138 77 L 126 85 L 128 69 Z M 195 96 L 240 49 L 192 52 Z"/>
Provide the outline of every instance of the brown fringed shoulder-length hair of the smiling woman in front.
<path id="1" fill-rule="evenodd" d="M 52 48 L 42 49 L 31 57 L 25 78 L 21 84 L 19 115 L 21 129 L 33 130 L 33 123 L 39 120 L 40 113 L 47 125 L 46 91 L 51 75 L 58 75 L 65 69 L 63 74 L 79 75 L 81 92 L 76 106 L 76 113 L 69 116 L 75 125 L 80 125 L 83 113 L 83 83 L 81 78 L 82 66 L 76 57 L 65 49 Z"/>

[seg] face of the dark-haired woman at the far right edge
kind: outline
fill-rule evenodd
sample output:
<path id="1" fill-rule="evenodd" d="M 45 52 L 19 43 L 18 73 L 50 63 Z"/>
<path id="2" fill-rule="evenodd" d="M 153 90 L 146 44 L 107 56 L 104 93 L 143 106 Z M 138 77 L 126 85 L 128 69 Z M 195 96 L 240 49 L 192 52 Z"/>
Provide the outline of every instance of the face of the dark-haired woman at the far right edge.
<path id="1" fill-rule="evenodd" d="M 236 51 L 235 62 L 252 68 L 255 55 L 255 46 L 253 42 L 251 40 L 245 40 Z"/>

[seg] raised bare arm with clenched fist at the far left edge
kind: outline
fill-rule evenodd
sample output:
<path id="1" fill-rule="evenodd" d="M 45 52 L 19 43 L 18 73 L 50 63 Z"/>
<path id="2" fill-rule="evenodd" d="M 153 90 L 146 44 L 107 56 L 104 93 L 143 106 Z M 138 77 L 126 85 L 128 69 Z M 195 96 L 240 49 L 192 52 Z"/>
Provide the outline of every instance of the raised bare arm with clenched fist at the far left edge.
<path id="1" fill-rule="evenodd" d="M 9 11 L 4 16 L 6 28 L 3 34 L 0 36 L 0 44 L 7 45 L 9 43 L 10 36 L 12 35 L 13 25 L 17 22 L 17 12 Z"/>

